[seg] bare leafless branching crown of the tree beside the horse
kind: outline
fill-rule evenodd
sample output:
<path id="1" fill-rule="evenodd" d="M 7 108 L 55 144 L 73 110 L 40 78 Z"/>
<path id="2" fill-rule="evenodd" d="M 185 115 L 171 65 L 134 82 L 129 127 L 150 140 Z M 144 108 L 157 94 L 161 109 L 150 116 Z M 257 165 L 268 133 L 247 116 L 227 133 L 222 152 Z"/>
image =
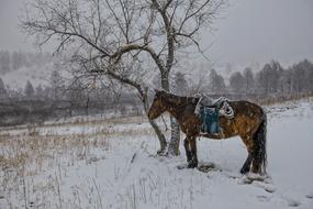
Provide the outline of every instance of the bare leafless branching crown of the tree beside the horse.
<path id="1" fill-rule="evenodd" d="M 224 0 L 34 0 L 21 22 L 38 45 L 56 42 L 76 75 L 105 76 L 135 88 L 147 111 L 146 75 L 159 70 L 169 91 L 178 53 L 194 46 L 201 52 L 200 32 L 223 6 Z M 165 136 L 149 122 L 164 151 Z"/>

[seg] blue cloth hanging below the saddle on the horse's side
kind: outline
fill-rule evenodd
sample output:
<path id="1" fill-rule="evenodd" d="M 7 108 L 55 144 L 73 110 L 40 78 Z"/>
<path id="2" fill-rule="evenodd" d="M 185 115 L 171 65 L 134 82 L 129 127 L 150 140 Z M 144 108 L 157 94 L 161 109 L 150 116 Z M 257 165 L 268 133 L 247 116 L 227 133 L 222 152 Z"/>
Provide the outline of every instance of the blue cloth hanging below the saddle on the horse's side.
<path id="1" fill-rule="evenodd" d="M 201 132 L 202 133 L 219 133 L 219 109 L 200 107 L 199 117 L 201 120 Z"/>

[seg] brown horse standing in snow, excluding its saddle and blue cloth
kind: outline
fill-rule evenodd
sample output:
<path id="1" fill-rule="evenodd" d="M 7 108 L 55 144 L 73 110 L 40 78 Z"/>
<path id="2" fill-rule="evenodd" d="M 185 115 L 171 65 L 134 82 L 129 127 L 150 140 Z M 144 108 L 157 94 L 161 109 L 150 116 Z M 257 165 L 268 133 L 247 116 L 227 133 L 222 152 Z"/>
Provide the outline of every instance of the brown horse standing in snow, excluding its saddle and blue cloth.
<path id="1" fill-rule="evenodd" d="M 183 141 L 188 167 L 198 166 L 197 136 L 205 136 L 214 140 L 241 136 L 247 147 L 248 156 L 241 173 L 248 172 L 265 174 L 267 164 L 266 154 L 266 125 L 267 117 L 261 107 L 249 101 L 228 101 L 234 110 L 234 118 L 219 117 L 222 129 L 217 134 L 202 134 L 201 121 L 194 113 L 200 98 L 179 97 L 166 91 L 156 90 L 154 101 L 148 111 L 148 118 L 154 120 L 165 111 L 168 111 L 179 122 L 181 131 L 186 134 Z"/>

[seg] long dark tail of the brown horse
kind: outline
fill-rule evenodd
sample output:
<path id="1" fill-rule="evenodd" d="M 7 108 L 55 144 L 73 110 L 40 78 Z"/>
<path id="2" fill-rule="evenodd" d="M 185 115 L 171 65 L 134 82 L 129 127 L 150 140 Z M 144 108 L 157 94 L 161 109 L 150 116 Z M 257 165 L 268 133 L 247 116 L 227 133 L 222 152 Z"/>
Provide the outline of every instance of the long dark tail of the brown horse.
<path id="1" fill-rule="evenodd" d="M 267 135 L 267 117 L 266 113 L 262 111 L 262 120 L 259 124 L 256 133 L 254 134 L 254 151 L 253 157 L 254 163 L 257 164 L 256 172 L 260 172 L 266 174 L 267 167 L 267 152 L 266 152 L 266 135 Z"/>

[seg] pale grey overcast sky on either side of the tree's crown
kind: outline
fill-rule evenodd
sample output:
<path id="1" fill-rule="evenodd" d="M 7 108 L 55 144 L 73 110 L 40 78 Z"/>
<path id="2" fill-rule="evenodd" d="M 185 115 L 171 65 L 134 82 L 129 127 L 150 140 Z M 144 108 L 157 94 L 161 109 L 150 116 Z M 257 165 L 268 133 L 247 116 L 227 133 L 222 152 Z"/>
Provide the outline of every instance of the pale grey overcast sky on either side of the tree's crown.
<path id="1" fill-rule="evenodd" d="M 203 42 L 212 62 L 235 65 L 275 58 L 290 64 L 313 61 L 313 0 L 230 0 L 217 31 Z M 18 28 L 23 0 L 0 0 L 0 51 L 33 51 Z"/>

